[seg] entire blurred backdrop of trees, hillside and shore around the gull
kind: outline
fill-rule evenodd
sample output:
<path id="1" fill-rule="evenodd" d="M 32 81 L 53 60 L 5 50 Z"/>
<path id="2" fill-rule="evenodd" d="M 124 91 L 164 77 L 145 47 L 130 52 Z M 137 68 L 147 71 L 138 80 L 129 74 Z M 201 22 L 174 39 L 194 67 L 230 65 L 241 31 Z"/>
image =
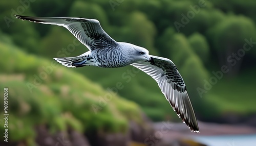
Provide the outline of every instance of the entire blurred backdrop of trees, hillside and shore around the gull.
<path id="1" fill-rule="evenodd" d="M 1 145 L 255 145 L 256 1 L 1 1 Z M 65 28 L 14 14 L 100 21 L 113 39 L 172 60 L 200 134 L 132 66 L 67 68 L 88 49 Z M 4 98 L 0 101 L 4 107 Z M 198 143 L 197 143 L 198 142 Z M 219 142 L 219 143 L 217 143 Z M 247 142 L 247 143 L 246 143 Z"/>

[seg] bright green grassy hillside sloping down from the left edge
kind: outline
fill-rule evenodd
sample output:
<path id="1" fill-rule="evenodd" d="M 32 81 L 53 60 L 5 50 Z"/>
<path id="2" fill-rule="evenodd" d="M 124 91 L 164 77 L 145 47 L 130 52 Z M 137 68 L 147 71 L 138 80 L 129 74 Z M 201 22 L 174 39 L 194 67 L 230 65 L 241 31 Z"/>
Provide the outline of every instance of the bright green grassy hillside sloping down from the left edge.
<path id="1" fill-rule="evenodd" d="M 125 132 L 129 120 L 140 124 L 137 104 L 72 69 L 26 54 L 3 35 L 0 50 L 0 94 L 8 88 L 10 140 L 32 144 L 36 125 L 47 125 L 51 132 L 68 127 L 80 132 Z"/>

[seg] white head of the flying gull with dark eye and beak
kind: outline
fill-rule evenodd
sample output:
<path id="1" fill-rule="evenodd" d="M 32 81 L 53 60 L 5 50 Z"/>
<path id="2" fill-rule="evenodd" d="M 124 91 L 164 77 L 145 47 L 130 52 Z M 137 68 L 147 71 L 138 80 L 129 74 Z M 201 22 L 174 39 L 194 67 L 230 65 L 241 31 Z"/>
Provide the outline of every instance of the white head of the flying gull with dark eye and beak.
<path id="1" fill-rule="evenodd" d="M 135 46 L 131 49 L 130 57 L 133 59 L 134 62 L 151 60 L 151 57 L 148 54 L 148 50 L 140 46 Z"/>

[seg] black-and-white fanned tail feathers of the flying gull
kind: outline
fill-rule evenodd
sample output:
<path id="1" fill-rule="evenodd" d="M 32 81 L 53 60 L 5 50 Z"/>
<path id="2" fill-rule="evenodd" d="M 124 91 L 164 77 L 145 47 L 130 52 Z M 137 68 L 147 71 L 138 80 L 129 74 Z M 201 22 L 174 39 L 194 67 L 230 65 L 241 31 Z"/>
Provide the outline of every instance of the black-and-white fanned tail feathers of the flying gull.
<path id="1" fill-rule="evenodd" d="M 86 58 L 84 57 L 86 56 L 53 58 L 53 59 L 67 67 L 82 67 L 84 66 L 84 62 L 86 62 Z"/>

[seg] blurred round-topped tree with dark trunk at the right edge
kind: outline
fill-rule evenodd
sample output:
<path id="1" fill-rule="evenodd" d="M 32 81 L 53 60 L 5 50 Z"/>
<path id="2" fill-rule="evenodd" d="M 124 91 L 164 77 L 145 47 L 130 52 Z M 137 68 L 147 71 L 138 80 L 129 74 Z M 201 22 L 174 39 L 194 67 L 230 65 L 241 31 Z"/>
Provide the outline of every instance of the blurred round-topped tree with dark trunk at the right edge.
<path id="1" fill-rule="evenodd" d="M 256 36 L 253 21 L 248 17 L 229 15 L 210 28 L 208 35 L 211 36 L 213 49 L 218 55 L 219 65 L 226 65 L 230 69 L 227 72 L 230 77 L 236 76 L 246 54 L 244 44 Z"/>

